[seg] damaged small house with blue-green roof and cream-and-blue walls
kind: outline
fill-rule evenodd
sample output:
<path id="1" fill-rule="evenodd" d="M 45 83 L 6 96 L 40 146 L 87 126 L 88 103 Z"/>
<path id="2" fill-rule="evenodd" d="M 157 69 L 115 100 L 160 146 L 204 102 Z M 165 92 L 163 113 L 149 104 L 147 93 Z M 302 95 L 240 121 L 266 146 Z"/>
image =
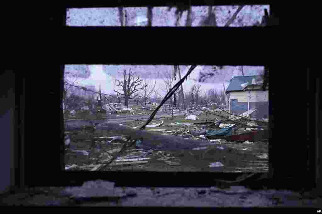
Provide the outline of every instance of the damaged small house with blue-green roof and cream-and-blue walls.
<path id="1" fill-rule="evenodd" d="M 229 113 L 242 114 L 256 109 L 251 118 L 268 118 L 268 87 L 262 90 L 263 79 L 258 76 L 235 76 L 230 81 L 226 94 L 230 94 Z"/>

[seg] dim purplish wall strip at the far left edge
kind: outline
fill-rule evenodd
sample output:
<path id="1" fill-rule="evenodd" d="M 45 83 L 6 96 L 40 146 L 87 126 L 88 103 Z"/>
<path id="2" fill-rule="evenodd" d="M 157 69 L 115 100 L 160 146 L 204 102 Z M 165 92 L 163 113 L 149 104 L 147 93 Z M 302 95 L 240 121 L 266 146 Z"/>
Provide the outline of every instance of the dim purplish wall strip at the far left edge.
<path id="1" fill-rule="evenodd" d="M 14 186 L 14 142 L 15 142 L 15 74 L 5 71 L 1 75 L 1 176 L 0 193 Z"/>

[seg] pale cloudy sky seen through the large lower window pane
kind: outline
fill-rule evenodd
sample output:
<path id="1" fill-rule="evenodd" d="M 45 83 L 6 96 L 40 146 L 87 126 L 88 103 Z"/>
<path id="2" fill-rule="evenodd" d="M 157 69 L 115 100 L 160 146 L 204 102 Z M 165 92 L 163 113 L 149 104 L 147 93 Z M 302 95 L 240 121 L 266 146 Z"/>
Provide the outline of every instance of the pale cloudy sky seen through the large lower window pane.
<path id="1" fill-rule="evenodd" d="M 66 65 L 66 67 L 73 68 L 73 65 Z M 190 66 L 180 66 L 182 77 L 187 73 Z M 116 87 L 114 82 L 116 79 L 122 78 L 123 69 L 129 68 L 133 69 L 133 72 L 136 73 L 140 78 L 151 78 L 156 80 L 156 88 L 160 88 L 160 95 L 165 95 L 165 92 L 162 91 L 164 89 L 164 81 L 162 79 L 162 73 L 164 72 L 173 72 L 172 65 L 89 65 L 89 77 L 86 78 L 78 78 L 77 84 L 82 86 L 94 85 L 98 90 L 99 85 L 101 86 L 101 90 L 104 93 L 114 94 L 114 90 L 120 90 L 119 87 Z M 216 75 L 214 77 L 209 78 L 205 82 L 198 82 L 198 78 L 200 75 L 200 71 L 209 71 L 212 70 L 212 66 L 204 66 L 198 65 L 194 71 L 188 77 L 188 80 L 183 83 L 183 87 L 185 91 L 188 91 L 193 84 L 200 84 L 202 86 L 202 90 L 209 90 L 216 88 L 217 90 L 223 90 L 223 83 L 225 88 L 227 89 L 229 85 L 229 80 L 233 76 L 242 76 L 242 72 L 238 70 L 239 67 L 236 66 L 224 66 L 222 69 L 222 74 Z M 263 71 L 263 66 L 243 66 L 244 75 L 260 75 Z M 157 76 L 161 74 L 159 77 Z M 177 82 L 179 78 L 177 78 Z M 203 92 L 204 93 L 204 92 Z"/>

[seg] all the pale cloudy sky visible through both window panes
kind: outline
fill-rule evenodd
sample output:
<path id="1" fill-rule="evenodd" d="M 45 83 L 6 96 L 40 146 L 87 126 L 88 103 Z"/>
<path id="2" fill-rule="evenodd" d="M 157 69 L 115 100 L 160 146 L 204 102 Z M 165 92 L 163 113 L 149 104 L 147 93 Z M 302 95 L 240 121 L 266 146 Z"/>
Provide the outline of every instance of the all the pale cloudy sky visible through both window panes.
<path id="1" fill-rule="evenodd" d="M 217 26 L 224 26 L 224 24 L 232 17 L 238 6 L 216 6 L 213 7 L 213 13 L 216 14 Z M 230 27 L 253 26 L 260 22 L 264 14 L 264 9 L 268 9 L 269 5 L 246 5 L 238 13 L 236 19 Z M 147 24 L 147 8 L 146 7 L 126 7 L 128 15 L 128 26 L 144 26 Z M 192 7 L 193 22 L 192 26 L 201 26 L 208 13 L 207 6 Z M 153 8 L 152 26 L 175 26 L 176 16 L 175 8 L 168 11 L 166 7 Z M 183 13 L 180 19 L 180 26 L 185 25 L 187 12 Z M 118 18 L 118 8 L 71 8 L 67 11 L 68 26 L 120 26 Z M 234 50 L 232 50 L 234 51 Z M 242 50 L 240 50 L 242 51 Z M 254 50 L 254 54 L 257 51 Z M 238 54 L 238 53 L 236 53 Z M 85 66 L 83 66 L 85 67 Z M 163 88 L 164 83 L 162 77 L 159 75 L 164 72 L 173 72 L 173 66 L 170 65 L 90 65 L 89 70 L 83 73 L 83 78 L 79 78 L 78 85 L 88 86 L 93 85 L 98 90 L 99 85 L 105 93 L 113 93 L 115 87 L 115 79 L 121 77 L 124 68 L 132 68 L 134 72 L 140 77 L 151 77 L 156 80 L 158 88 Z M 180 66 L 181 75 L 184 76 L 190 66 Z M 80 66 L 66 65 L 65 70 L 77 71 Z M 202 85 L 203 90 L 216 88 L 223 90 L 223 83 L 225 88 L 229 85 L 229 80 L 233 76 L 241 76 L 242 73 L 239 67 L 224 66 L 223 69 L 214 77 L 208 78 L 204 83 L 197 82 L 200 72 L 212 71 L 212 66 L 197 66 L 191 73 L 188 81 L 185 81 L 183 86 L 187 91 L 194 83 Z M 259 75 L 263 70 L 263 66 L 243 66 L 244 75 Z M 77 71 L 78 73 L 80 71 Z M 83 71 L 81 71 L 83 72 Z M 178 81 L 178 79 L 177 79 Z M 165 95 L 162 90 L 159 90 L 161 95 Z M 204 92 L 203 92 L 204 93 Z"/>

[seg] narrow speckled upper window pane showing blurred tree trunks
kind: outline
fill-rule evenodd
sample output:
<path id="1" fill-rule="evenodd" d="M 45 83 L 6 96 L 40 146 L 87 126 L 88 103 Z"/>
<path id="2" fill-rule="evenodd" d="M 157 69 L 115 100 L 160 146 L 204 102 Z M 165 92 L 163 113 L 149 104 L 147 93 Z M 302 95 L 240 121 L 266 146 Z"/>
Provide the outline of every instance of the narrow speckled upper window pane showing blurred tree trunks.
<path id="1" fill-rule="evenodd" d="M 153 7 L 148 13 L 147 7 L 124 8 L 70 8 L 67 10 L 67 26 L 259 26 L 265 24 L 265 11 L 269 14 L 269 5 L 244 6 L 192 6 Z"/>

